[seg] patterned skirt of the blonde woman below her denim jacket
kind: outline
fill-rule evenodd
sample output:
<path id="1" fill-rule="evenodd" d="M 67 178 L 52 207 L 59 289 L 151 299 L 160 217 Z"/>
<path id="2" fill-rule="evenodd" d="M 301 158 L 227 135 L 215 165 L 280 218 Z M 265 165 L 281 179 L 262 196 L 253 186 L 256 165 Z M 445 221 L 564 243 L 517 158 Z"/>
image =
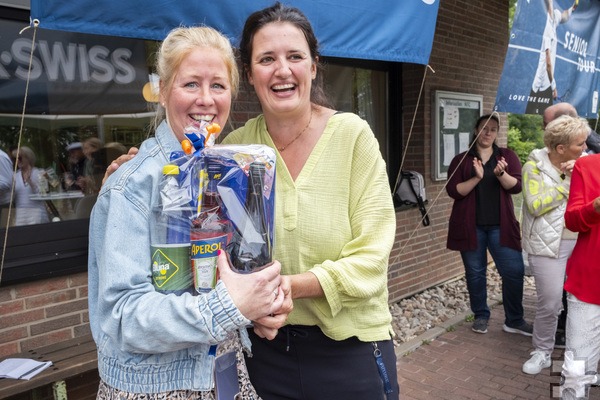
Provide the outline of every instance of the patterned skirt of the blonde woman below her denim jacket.
<path id="1" fill-rule="evenodd" d="M 239 333 L 229 335 L 225 341 L 219 343 L 217 355 L 228 351 L 235 351 L 235 358 L 238 369 L 238 383 L 240 392 L 235 400 L 261 400 L 256 393 L 254 386 L 250 383 L 246 361 Z M 215 390 L 198 392 L 195 390 L 173 390 L 162 393 L 131 393 L 108 386 L 100 380 L 96 400 L 215 400 L 217 398 Z"/>

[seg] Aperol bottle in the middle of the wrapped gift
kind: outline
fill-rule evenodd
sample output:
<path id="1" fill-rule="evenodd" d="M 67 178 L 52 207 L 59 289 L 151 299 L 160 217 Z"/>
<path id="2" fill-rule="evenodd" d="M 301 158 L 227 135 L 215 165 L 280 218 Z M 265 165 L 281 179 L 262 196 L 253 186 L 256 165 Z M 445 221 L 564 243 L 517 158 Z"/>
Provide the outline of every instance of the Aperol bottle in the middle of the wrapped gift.
<path id="1" fill-rule="evenodd" d="M 216 285 L 218 251 L 225 250 L 233 228 L 217 189 L 222 178 L 222 165 L 207 158 L 206 169 L 201 169 L 199 174 L 199 193 L 202 195 L 191 231 L 191 264 L 194 289 L 206 293 Z"/>

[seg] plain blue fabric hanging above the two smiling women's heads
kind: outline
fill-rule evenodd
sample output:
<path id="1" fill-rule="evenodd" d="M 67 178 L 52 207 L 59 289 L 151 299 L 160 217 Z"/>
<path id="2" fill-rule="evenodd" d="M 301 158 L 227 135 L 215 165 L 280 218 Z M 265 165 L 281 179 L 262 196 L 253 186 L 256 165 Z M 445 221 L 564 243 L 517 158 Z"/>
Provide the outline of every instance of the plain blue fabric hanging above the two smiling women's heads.
<path id="1" fill-rule="evenodd" d="M 289 0 L 325 56 L 427 64 L 440 0 Z M 244 21 L 274 1 L 31 0 L 40 28 L 162 40 L 177 26 L 212 26 L 239 42 Z"/>

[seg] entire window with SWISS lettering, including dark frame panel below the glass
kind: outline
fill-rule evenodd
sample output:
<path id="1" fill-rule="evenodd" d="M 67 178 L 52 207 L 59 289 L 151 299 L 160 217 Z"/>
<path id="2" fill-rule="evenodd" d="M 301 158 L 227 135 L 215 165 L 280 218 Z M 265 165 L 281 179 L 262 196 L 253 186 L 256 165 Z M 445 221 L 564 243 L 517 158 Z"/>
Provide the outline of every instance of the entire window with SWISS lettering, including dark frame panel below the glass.
<path id="1" fill-rule="evenodd" d="M 22 116 L 31 34 L 19 32 L 29 11 L 0 6 L 0 15 L 0 149 L 17 165 L 10 219 L 0 209 L 7 285 L 87 270 L 89 215 L 104 170 L 139 146 L 154 113 L 141 86 L 152 46 L 40 30 Z M 134 102 L 139 112 L 126 109 Z"/>

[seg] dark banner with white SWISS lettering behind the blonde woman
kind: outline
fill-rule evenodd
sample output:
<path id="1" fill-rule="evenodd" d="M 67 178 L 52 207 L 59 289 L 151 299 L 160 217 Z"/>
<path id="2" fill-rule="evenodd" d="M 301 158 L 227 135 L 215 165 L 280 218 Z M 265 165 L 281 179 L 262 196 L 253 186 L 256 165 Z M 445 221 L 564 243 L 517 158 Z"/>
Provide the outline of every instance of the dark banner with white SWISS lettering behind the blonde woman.
<path id="1" fill-rule="evenodd" d="M 122 114 L 148 110 L 144 41 L 0 25 L 0 113 Z"/>

